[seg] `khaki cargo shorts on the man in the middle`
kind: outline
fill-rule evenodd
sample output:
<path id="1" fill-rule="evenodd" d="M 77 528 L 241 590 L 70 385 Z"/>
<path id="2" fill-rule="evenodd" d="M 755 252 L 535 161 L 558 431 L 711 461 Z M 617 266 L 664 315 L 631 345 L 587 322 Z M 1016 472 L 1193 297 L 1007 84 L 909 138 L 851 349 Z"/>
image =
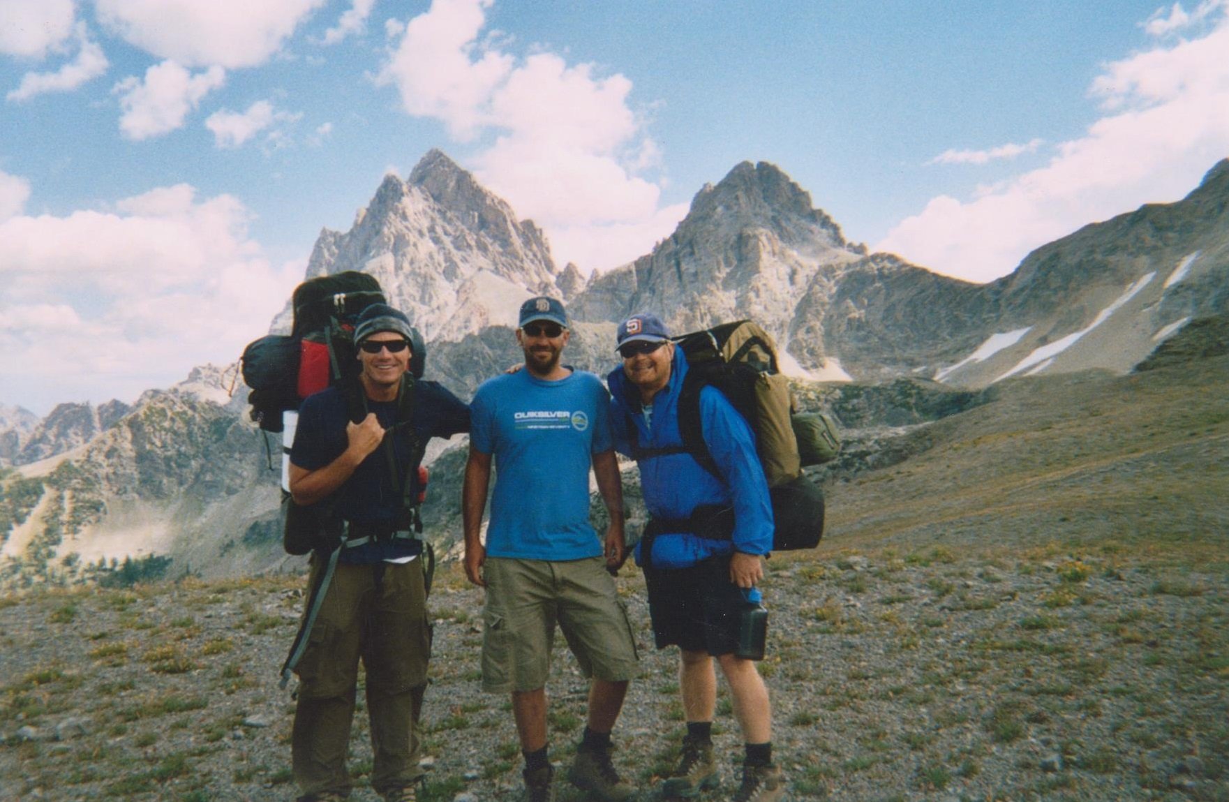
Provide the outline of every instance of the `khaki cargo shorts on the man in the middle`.
<path id="1" fill-rule="evenodd" d="M 488 557 L 482 689 L 546 686 L 558 624 L 585 677 L 632 679 L 639 656 L 627 608 L 602 557 L 548 562 Z"/>

